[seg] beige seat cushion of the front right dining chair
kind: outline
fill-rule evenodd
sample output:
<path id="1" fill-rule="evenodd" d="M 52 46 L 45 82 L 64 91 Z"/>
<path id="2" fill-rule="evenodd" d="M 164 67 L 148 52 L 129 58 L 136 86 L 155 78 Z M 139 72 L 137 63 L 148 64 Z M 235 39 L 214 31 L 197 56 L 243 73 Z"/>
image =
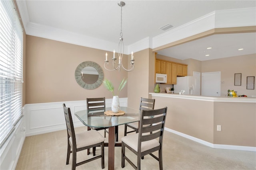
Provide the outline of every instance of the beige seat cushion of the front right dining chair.
<path id="1" fill-rule="evenodd" d="M 132 149 L 134 149 L 138 152 L 138 138 L 139 138 L 139 134 L 135 133 L 135 134 L 132 134 L 132 135 L 122 137 L 122 141 L 124 143 L 126 143 L 129 147 L 131 147 Z M 141 143 L 141 152 L 152 149 L 152 148 L 157 147 L 159 145 L 160 145 L 160 143 L 156 139 L 142 142 Z"/>

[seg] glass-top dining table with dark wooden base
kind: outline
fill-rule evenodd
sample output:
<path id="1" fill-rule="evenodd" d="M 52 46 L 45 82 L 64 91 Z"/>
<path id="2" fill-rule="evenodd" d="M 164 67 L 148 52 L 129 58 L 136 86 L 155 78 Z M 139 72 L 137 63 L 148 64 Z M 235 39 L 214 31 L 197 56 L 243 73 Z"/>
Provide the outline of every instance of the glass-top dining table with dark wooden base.
<path id="1" fill-rule="evenodd" d="M 111 107 L 106 107 L 105 110 L 94 110 L 89 113 L 87 110 L 75 112 L 76 117 L 88 127 L 108 127 L 108 170 L 114 170 L 114 154 L 116 146 L 116 132 L 118 125 L 124 125 L 140 121 L 140 110 L 130 107 L 120 107 L 124 111 L 124 115 L 108 116 L 104 111 L 111 111 Z"/>

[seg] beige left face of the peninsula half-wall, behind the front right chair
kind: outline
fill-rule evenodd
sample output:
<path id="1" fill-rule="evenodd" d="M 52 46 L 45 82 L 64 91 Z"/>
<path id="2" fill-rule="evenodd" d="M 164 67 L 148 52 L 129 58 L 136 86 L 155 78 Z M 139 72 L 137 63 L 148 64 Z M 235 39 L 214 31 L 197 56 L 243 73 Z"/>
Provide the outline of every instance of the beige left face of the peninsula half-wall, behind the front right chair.
<path id="1" fill-rule="evenodd" d="M 171 94 L 170 94 L 171 95 Z M 179 98 L 156 99 L 155 109 L 168 107 L 165 127 L 213 143 L 213 102 Z"/>

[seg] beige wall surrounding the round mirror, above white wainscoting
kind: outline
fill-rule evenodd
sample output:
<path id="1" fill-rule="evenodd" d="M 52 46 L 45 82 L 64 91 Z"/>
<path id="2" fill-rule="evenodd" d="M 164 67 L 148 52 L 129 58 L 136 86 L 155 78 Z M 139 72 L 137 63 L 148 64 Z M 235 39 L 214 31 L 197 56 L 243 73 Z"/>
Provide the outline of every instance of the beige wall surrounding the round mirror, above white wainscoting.
<path id="1" fill-rule="evenodd" d="M 80 63 L 93 61 L 102 67 L 104 78 L 111 80 L 117 90 L 122 79 L 128 75 L 124 70 L 106 70 L 105 53 L 99 49 L 26 35 L 26 104 L 78 101 L 101 96 L 112 98 L 112 93 L 103 84 L 94 90 L 87 90 L 80 87 L 74 77 Z M 108 51 L 108 54 L 111 56 L 111 52 Z M 127 65 L 127 60 L 124 65 Z M 128 85 L 130 83 L 128 80 Z M 127 97 L 127 89 L 128 86 L 120 92 L 120 98 Z"/>

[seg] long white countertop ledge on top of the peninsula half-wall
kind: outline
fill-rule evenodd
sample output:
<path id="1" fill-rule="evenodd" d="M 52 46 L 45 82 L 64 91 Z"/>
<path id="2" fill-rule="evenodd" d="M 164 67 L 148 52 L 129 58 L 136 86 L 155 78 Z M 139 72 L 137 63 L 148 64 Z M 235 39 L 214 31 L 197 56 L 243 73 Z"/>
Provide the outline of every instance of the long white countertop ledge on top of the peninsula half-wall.
<path id="1" fill-rule="evenodd" d="M 167 97 L 167 98 L 181 98 L 188 100 L 203 100 L 211 102 L 242 102 L 242 103 L 256 103 L 256 98 L 253 97 L 229 97 L 229 96 L 193 96 L 173 93 L 149 93 L 152 96 Z"/>

